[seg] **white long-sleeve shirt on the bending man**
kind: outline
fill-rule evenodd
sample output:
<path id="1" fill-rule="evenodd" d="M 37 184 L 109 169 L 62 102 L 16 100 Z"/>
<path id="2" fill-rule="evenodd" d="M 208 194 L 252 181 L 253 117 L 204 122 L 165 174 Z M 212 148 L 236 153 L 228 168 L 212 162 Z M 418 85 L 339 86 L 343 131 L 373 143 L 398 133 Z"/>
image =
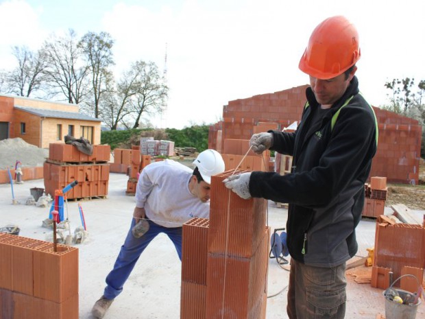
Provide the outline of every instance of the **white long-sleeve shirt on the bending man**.
<path id="1" fill-rule="evenodd" d="M 193 170 L 176 161 L 154 162 L 143 168 L 136 187 L 136 206 L 158 225 L 180 227 L 193 217 L 208 218 L 210 203 L 189 191 Z"/>

